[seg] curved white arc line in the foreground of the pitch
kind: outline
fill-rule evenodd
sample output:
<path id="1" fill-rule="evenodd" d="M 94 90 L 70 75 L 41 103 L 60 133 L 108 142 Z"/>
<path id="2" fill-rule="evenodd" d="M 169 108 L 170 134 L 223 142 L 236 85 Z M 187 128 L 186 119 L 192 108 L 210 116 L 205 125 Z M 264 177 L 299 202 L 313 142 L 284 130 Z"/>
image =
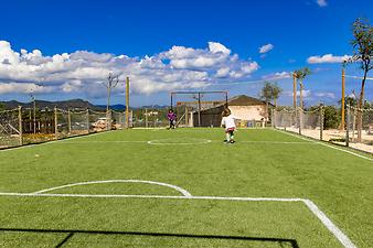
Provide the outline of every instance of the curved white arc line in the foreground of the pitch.
<path id="1" fill-rule="evenodd" d="M 172 190 L 180 192 L 183 196 L 186 196 L 186 197 L 192 196 L 191 193 L 189 193 L 186 190 L 181 188 L 177 185 L 172 185 L 172 184 L 168 184 L 168 183 L 160 183 L 160 182 L 154 182 L 154 181 L 145 181 L 145 180 L 105 180 L 105 181 L 90 181 L 90 182 L 72 183 L 72 184 L 66 184 L 66 185 L 61 185 L 61 186 L 56 186 L 56 187 L 50 187 L 50 188 L 41 190 L 41 191 L 38 191 L 38 192 L 33 192 L 31 194 L 41 194 L 41 193 L 61 190 L 61 188 L 65 188 L 65 187 L 73 187 L 73 186 L 78 186 L 78 185 L 89 185 L 89 184 L 103 184 L 103 183 L 145 183 L 145 184 L 153 184 L 153 185 L 170 187 Z"/>

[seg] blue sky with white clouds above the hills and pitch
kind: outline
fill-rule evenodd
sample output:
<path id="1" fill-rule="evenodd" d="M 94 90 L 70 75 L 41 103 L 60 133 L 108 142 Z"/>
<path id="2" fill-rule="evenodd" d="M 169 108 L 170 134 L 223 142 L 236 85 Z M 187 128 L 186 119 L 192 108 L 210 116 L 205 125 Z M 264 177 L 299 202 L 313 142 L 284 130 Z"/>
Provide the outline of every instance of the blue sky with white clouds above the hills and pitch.
<path id="1" fill-rule="evenodd" d="M 286 105 L 287 75 L 305 66 L 312 71 L 306 103 L 335 104 L 352 22 L 373 18 L 370 0 L 3 0 L 1 9 L 0 99 L 28 101 L 33 93 L 104 104 L 111 72 L 130 76 L 134 106 L 168 104 L 178 89 L 257 97 L 263 83 L 249 82 L 274 77 Z M 361 71 L 350 65 L 348 74 Z M 347 83 L 348 94 L 360 89 Z M 124 103 L 122 87 L 113 101 Z"/>

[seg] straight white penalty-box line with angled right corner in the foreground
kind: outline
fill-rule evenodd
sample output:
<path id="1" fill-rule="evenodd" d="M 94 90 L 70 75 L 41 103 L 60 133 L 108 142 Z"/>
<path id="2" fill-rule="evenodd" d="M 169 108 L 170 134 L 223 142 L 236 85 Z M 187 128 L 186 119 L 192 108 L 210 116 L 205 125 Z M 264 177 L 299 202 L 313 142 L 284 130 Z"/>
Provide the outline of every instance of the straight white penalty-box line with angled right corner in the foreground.
<path id="1" fill-rule="evenodd" d="M 167 195 L 86 195 L 86 194 L 35 194 L 35 193 L 0 193 L 1 196 L 30 197 L 81 197 L 81 198 L 173 198 L 173 200 L 211 200 L 211 201 L 243 201 L 243 202 L 302 202 L 310 212 L 328 228 L 328 230 L 345 248 L 356 248 L 350 238 L 339 229 L 328 216 L 310 200 L 302 198 L 260 198 L 260 197 L 224 197 L 224 196 L 167 196 Z"/>

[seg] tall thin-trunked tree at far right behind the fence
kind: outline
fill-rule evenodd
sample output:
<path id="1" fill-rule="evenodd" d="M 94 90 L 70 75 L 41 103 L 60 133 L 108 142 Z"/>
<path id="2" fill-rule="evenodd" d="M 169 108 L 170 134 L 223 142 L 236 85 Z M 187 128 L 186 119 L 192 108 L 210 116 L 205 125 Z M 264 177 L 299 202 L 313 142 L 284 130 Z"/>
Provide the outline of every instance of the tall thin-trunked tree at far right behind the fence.
<path id="1" fill-rule="evenodd" d="M 356 19 L 353 24 L 353 40 L 351 42 L 353 46 L 353 56 L 350 62 L 359 62 L 361 68 L 364 71 L 364 76 L 361 82 L 360 97 L 358 101 L 358 141 L 362 140 L 362 127 L 363 127 L 363 103 L 364 103 L 364 87 L 369 71 L 373 68 L 371 60 L 373 58 L 373 26 L 362 19 Z"/>

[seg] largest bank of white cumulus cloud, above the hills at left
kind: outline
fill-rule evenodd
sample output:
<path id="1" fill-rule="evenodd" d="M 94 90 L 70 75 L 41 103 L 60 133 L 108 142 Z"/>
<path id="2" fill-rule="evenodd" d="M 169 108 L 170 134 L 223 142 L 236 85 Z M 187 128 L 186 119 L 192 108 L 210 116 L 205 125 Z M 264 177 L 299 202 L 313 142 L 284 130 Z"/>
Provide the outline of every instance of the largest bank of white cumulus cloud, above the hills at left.
<path id="1" fill-rule="evenodd" d="M 259 68 L 241 60 L 225 45 L 209 42 L 204 48 L 172 46 L 143 57 L 76 51 L 44 55 L 41 50 L 14 51 L 0 41 L 0 94 L 57 93 L 105 96 L 109 73 L 124 82 L 130 77 L 134 94 L 203 88 L 211 84 L 245 79 Z M 121 89 L 119 89 L 121 88 Z M 120 94 L 122 87 L 115 89 Z"/>

